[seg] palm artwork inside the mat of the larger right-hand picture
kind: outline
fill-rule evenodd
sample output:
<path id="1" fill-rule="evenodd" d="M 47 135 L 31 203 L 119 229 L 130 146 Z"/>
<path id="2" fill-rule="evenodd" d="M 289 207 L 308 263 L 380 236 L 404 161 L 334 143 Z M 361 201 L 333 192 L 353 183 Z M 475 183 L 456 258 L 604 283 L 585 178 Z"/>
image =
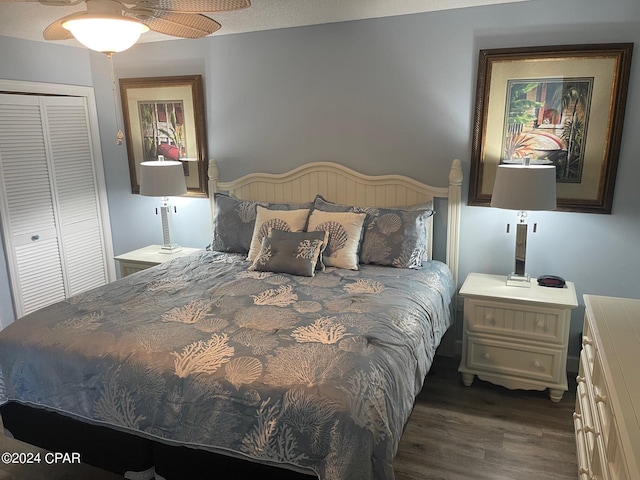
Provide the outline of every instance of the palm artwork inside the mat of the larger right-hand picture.
<path id="1" fill-rule="evenodd" d="M 500 163 L 556 166 L 558 182 L 580 183 L 593 78 L 508 80 Z"/>

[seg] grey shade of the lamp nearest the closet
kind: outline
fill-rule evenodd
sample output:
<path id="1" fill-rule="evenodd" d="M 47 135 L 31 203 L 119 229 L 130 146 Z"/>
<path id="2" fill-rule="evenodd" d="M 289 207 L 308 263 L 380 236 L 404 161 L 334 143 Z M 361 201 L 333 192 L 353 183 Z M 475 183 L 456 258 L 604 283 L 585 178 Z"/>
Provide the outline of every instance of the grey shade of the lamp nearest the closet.
<path id="1" fill-rule="evenodd" d="M 140 164 L 140 194 L 175 197 L 187 193 L 182 163 L 154 160 Z"/>

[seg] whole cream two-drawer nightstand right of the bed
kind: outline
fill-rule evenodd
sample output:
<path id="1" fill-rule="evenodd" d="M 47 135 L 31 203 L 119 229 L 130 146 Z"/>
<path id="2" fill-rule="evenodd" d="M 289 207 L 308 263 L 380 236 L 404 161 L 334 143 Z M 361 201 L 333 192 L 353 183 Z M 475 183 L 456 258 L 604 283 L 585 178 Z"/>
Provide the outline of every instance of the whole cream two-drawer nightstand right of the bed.
<path id="1" fill-rule="evenodd" d="M 469 386 L 474 375 L 510 389 L 544 390 L 559 402 L 567 390 L 567 344 L 573 283 L 565 288 L 510 287 L 502 275 L 470 273 L 464 297 L 462 361 Z"/>

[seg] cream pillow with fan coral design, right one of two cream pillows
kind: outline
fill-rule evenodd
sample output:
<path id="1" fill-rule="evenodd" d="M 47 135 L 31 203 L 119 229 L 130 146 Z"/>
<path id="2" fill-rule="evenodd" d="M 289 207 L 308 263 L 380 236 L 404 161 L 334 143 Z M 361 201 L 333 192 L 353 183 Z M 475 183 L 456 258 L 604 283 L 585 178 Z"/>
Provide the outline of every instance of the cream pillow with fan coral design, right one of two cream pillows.
<path id="1" fill-rule="evenodd" d="M 329 233 L 322 260 L 329 267 L 358 270 L 358 247 L 366 214 L 354 212 L 324 212 L 314 210 L 307 231 Z"/>

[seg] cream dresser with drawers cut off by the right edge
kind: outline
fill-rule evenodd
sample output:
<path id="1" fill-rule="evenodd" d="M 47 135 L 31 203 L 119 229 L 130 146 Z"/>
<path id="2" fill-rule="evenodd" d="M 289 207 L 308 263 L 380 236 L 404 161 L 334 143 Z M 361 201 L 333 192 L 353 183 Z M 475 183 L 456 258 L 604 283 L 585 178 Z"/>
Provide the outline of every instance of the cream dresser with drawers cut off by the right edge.
<path id="1" fill-rule="evenodd" d="M 574 424 L 579 480 L 640 479 L 640 300 L 585 295 Z"/>

